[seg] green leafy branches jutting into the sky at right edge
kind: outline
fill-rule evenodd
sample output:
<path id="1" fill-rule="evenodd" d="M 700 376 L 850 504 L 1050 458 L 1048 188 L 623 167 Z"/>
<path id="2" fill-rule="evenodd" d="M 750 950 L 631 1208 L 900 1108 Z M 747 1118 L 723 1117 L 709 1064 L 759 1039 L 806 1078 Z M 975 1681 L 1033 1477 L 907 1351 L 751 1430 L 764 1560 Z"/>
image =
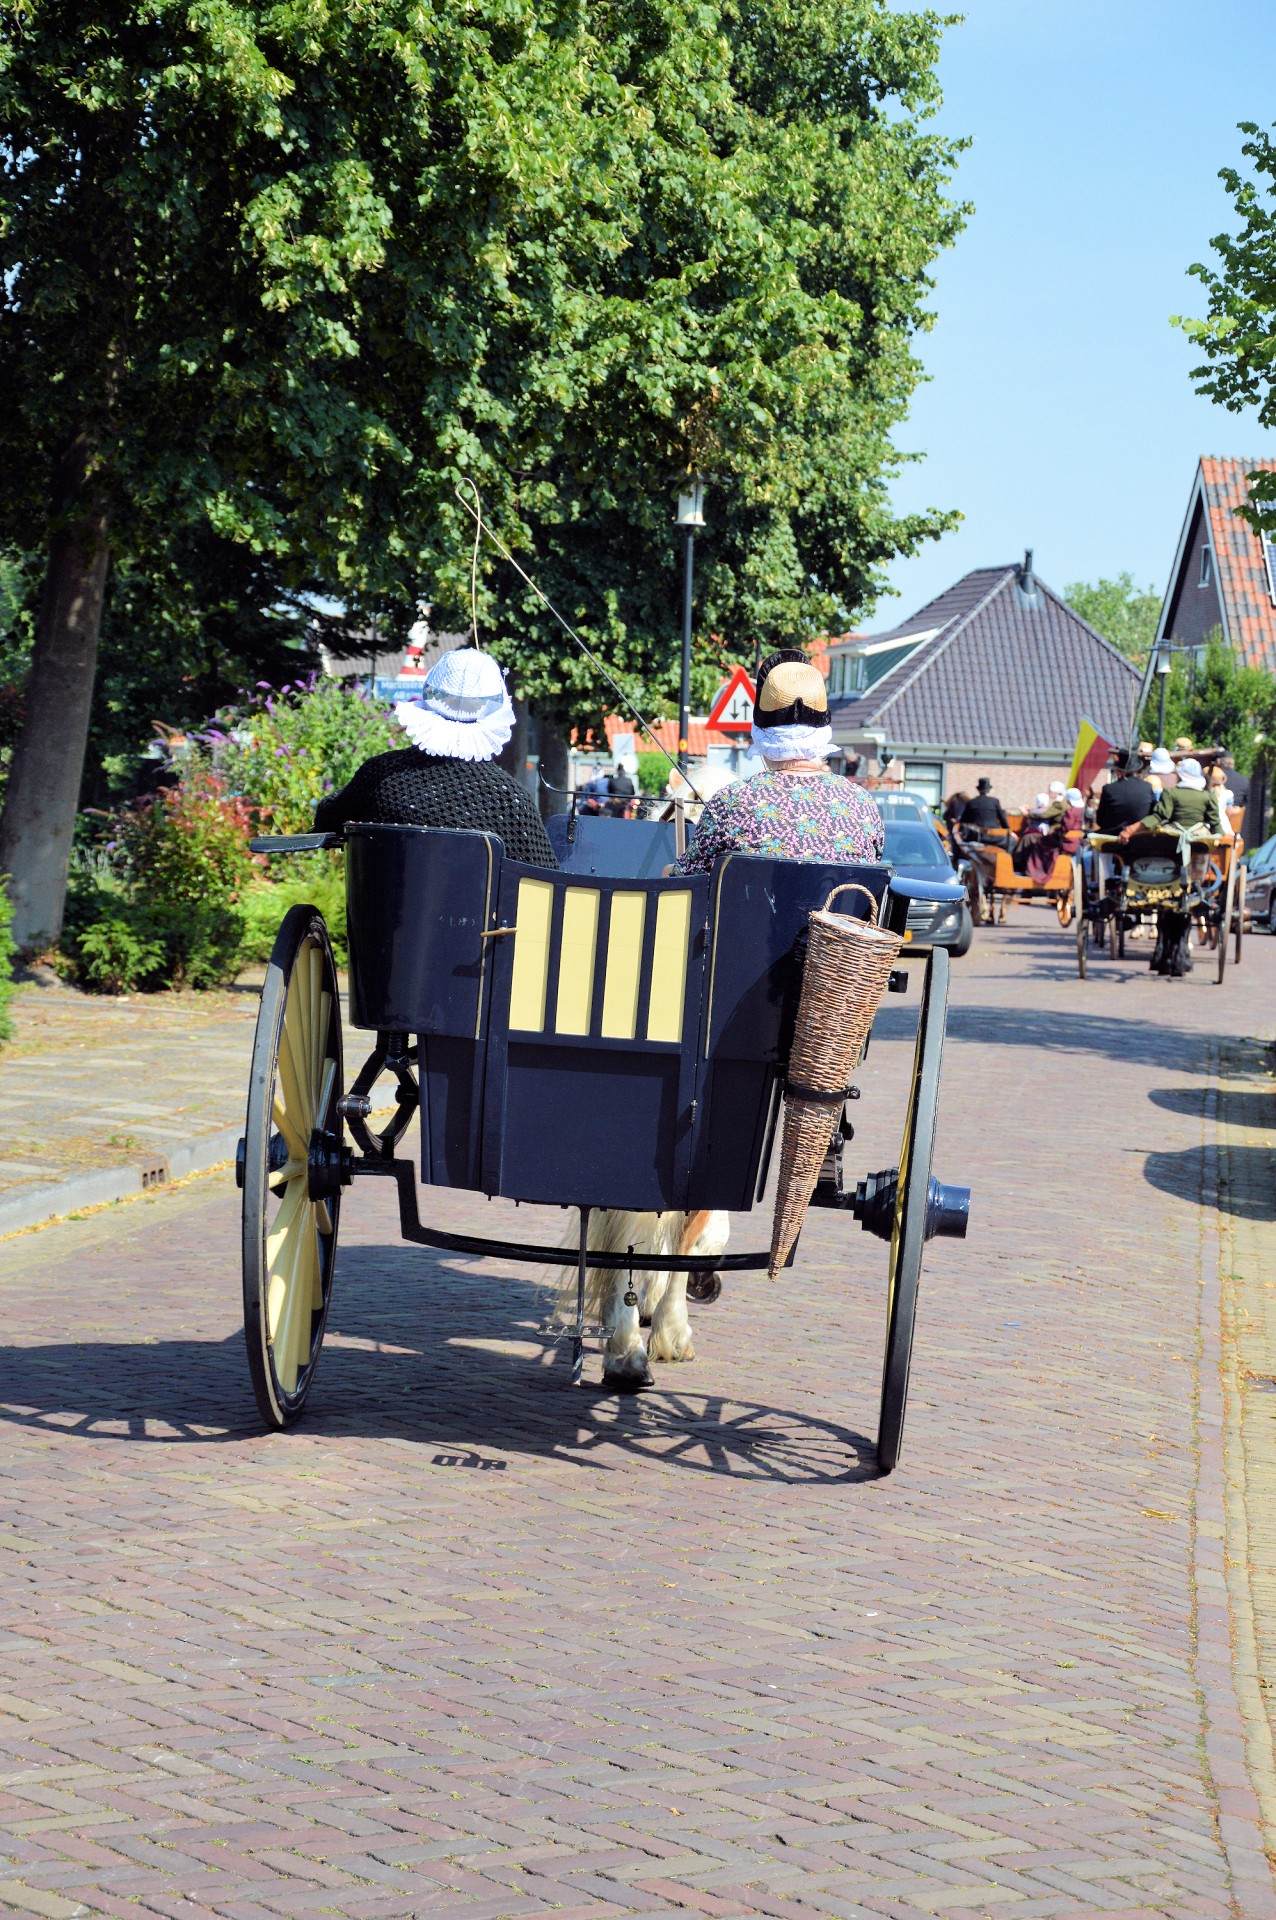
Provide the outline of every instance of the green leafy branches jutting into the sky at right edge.
<path id="1" fill-rule="evenodd" d="M 1241 154 L 1253 161 L 1253 179 L 1222 167 L 1240 232 L 1211 240 L 1218 265 L 1195 263 L 1192 273 L 1209 294 L 1201 319 L 1174 315 L 1203 351 L 1192 369 L 1197 392 L 1240 413 L 1257 407 L 1263 426 L 1276 426 L 1276 144 L 1255 121 L 1241 121 L 1249 138 Z M 1238 513 L 1253 526 L 1276 530 L 1276 472 L 1249 476 L 1249 503 Z"/>

